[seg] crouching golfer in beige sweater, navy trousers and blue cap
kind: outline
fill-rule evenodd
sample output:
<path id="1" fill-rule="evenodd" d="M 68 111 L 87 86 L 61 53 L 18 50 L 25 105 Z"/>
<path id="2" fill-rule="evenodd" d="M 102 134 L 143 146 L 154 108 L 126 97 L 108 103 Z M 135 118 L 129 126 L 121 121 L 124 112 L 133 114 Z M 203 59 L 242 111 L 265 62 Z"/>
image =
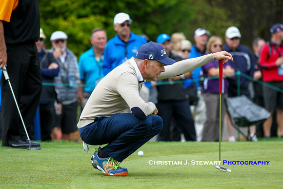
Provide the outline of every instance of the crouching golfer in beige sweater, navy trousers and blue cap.
<path id="1" fill-rule="evenodd" d="M 156 106 L 140 97 L 145 81 L 181 75 L 221 59 L 225 59 L 223 63 L 233 61 L 231 54 L 222 51 L 175 63 L 158 43 L 140 46 L 136 59 L 132 57 L 101 80 L 82 110 L 78 127 L 84 143 L 108 144 L 94 152 L 93 167 L 107 176 L 127 176 L 128 170 L 121 168 L 120 162 L 162 130 Z M 123 113 L 129 107 L 132 113 Z"/>

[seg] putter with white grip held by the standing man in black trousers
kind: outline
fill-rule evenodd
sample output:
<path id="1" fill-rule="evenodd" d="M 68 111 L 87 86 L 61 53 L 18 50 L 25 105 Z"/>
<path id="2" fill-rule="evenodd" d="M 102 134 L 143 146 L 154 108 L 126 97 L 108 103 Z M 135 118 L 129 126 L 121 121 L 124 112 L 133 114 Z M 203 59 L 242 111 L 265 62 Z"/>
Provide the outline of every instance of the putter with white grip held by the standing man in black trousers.
<path id="1" fill-rule="evenodd" d="M 13 97 L 14 97 L 14 100 L 15 100 L 15 103 L 16 103 L 16 106 L 18 108 L 18 111 L 19 111 L 19 114 L 20 114 L 20 120 L 22 122 L 22 125 L 23 125 L 23 128 L 25 130 L 25 134 L 27 136 L 27 139 L 28 139 L 28 145 L 29 147 L 27 147 L 27 149 L 41 149 L 40 145 L 37 143 L 37 144 L 33 144 L 33 142 L 29 139 L 29 136 L 28 136 L 28 133 L 27 133 L 27 130 L 26 130 L 26 127 L 24 125 L 24 122 L 23 122 L 23 119 L 21 117 L 21 113 L 20 113 L 20 108 L 19 108 L 19 105 L 17 103 L 17 99 L 15 97 L 15 94 L 14 94 L 14 91 L 13 91 L 13 88 L 12 88 L 12 85 L 11 85 L 11 82 L 10 82 L 10 78 L 9 78 L 9 75 L 8 75 L 8 72 L 7 72 L 7 69 L 6 69 L 6 66 L 3 67 L 3 74 L 4 74 L 4 77 L 5 77 L 5 80 L 7 80 L 7 82 L 9 83 L 9 86 L 10 86 L 10 89 L 11 89 L 11 92 L 13 94 Z"/>

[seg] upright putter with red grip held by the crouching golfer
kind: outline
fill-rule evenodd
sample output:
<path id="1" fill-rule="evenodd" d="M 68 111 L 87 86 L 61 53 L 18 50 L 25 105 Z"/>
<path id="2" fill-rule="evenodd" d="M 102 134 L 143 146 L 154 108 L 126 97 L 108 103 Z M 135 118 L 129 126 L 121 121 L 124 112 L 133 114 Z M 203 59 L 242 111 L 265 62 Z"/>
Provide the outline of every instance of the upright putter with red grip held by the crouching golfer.
<path id="1" fill-rule="evenodd" d="M 230 168 L 224 168 L 221 165 L 221 94 L 222 94 L 222 80 L 223 80 L 223 60 L 219 61 L 219 165 L 215 168 L 224 172 L 231 172 Z"/>

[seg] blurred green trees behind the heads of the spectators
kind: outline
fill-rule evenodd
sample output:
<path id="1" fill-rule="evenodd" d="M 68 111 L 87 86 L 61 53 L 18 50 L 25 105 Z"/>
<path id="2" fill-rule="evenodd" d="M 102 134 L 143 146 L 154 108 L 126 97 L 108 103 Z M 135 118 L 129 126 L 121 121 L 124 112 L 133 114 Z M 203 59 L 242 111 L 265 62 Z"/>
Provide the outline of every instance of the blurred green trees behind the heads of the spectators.
<path id="1" fill-rule="evenodd" d="M 229 26 L 237 26 L 242 43 L 269 40 L 272 24 L 283 22 L 282 0 L 39 0 L 41 27 L 49 41 L 54 31 L 68 35 L 68 47 L 80 55 L 91 47 L 91 30 L 101 27 L 114 37 L 113 18 L 125 12 L 133 20 L 131 30 L 156 41 L 161 33 L 183 32 L 194 43 L 194 31 L 205 28 L 224 37 Z"/>

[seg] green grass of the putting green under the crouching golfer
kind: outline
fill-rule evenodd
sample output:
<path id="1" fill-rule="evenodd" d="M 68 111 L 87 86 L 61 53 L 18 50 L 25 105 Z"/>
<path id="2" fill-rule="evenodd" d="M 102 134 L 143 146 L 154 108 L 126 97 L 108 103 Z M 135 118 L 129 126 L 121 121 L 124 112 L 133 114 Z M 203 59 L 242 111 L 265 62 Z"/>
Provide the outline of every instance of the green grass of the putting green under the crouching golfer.
<path id="1" fill-rule="evenodd" d="M 283 188 L 283 139 L 221 143 L 222 160 L 269 165 L 149 165 L 149 161 L 218 161 L 219 143 L 151 142 L 121 163 L 126 177 L 107 177 L 91 166 L 95 151 L 81 143 L 40 142 L 41 150 L 0 147 L 0 188 Z"/>

